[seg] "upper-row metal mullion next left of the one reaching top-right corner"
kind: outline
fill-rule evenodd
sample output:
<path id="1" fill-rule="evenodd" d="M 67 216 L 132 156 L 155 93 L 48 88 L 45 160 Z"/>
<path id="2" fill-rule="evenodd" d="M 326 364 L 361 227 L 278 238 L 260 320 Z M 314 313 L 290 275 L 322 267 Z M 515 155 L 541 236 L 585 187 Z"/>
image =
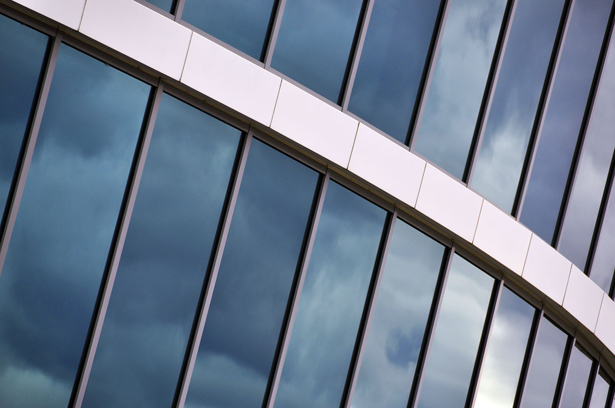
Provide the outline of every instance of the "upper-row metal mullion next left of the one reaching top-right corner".
<path id="1" fill-rule="evenodd" d="M 534 159 L 536 159 L 536 150 L 538 149 L 538 143 L 542 133 L 542 125 L 544 124 L 544 118 L 547 112 L 547 106 L 549 106 L 549 100 L 551 98 L 551 92 L 555 83 L 555 77 L 557 76 L 557 69 L 560 65 L 561 50 L 563 49 L 566 34 L 568 33 L 568 26 L 570 25 L 570 16 L 574 9 L 575 0 L 566 0 L 562 10 L 560 18 L 560 26 L 555 34 L 555 44 L 551 52 L 551 58 L 549 60 L 549 66 L 547 66 L 547 74 L 542 85 L 542 92 L 540 100 L 538 101 L 538 108 L 536 109 L 536 116 L 534 117 L 534 124 L 530 133 L 530 141 L 528 142 L 528 150 L 525 152 L 525 159 L 523 161 L 523 167 L 521 175 L 519 177 L 519 184 L 517 186 L 517 194 L 515 194 L 515 201 L 512 205 L 511 214 L 515 219 L 518 219 L 521 214 L 523 202 L 525 201 L 525 195 L 527 194 L 528 182 L 530 181 L 530 175 L 532 168 L 534 167 Z"/>

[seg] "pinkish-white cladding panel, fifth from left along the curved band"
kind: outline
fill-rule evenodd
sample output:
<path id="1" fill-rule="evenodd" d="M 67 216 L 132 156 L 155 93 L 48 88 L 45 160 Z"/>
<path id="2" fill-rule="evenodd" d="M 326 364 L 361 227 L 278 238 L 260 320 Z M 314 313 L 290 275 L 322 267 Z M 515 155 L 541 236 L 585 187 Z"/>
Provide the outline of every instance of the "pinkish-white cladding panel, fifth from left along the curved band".
<path id="1" fill-rule="evenodd" d="M 348 170 L 403 203 L 415 206 L 425 160 L 359 124 Z"/>

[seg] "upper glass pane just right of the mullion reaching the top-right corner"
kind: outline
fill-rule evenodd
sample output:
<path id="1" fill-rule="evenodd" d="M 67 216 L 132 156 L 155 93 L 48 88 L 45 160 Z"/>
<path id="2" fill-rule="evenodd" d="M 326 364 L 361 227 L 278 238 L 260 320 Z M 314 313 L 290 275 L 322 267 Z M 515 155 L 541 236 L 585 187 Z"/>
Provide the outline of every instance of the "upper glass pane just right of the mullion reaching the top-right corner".
<path id="1" fill-rule="evenodd" d="M 615 33 L 593 104 L 558 251 L 583 270 L 615 149 Z"/>

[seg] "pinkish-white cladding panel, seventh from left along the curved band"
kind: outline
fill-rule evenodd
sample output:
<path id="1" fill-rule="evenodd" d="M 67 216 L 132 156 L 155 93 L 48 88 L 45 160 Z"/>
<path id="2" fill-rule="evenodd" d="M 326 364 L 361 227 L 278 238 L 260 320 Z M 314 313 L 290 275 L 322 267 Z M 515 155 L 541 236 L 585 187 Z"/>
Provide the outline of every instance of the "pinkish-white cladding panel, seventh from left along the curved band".
<path id="1" fill-rule="evenodd" d="M 532 233 L 490 202 L 480 211 L 474 245 L 521 275 Z"/>

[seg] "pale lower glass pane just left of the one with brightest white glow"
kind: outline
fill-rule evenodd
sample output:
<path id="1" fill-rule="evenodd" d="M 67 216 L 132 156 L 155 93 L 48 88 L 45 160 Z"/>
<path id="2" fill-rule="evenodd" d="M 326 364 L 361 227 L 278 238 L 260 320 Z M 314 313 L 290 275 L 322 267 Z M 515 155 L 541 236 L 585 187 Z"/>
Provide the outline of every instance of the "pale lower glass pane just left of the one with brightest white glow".
<path id="1" fill-rule="evenodd" d="M 462 407 L 466 404 L 492 289 L 493 278 L 462 257 L 453 257 L 419 407 Z"/>

